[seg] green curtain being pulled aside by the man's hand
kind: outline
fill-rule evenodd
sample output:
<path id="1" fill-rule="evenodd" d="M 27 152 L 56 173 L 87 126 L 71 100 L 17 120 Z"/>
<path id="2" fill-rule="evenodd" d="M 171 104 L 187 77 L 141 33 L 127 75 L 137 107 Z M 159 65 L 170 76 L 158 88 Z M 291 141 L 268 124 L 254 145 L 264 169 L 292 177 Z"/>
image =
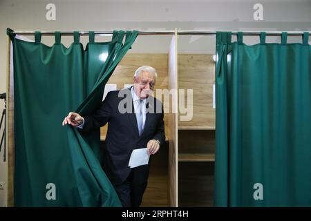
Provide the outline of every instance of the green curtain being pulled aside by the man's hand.
<path id="1" fill-rule="evenodd" d="M 15 77 L 15 206 L 121 206 L 100 165 L 100 129 L 82 136 L 62 121 L 70 111 L 88 115 L 100 105 L 138 32 L 114 31 L 105 43 L 89 32 L 86 50 L 79 32 L 69 48 L 60 32 L 52 47 L 41 43 L 40 32 L 35 42 L 7 34 Z M 55 200 L 48 184 L 55 185 Z"/>

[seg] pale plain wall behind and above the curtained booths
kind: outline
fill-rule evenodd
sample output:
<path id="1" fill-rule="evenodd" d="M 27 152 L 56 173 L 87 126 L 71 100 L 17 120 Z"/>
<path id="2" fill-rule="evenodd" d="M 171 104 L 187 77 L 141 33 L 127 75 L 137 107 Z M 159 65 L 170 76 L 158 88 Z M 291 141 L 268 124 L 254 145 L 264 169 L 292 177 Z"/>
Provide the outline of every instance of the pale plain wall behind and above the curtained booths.
<path id="1" fill-rule="evenodd" d="M 56 20 L 46 20 L 46 4 L 55 3 Z M 254 21 L 253 6 L 263 4 L 263 21 Z M 0 1 L 0 93 L 6 91 L 6 28 L 13 30 L 311 30 L 311 0 L 1 0 Z M 180 52 L 209 52 L 214 37 L 180 37 Z M 274 37 L 269 41 L 279 41 Z M 301 38 L 289 38 L 300 41 Z M 53 37 L 42 37 L 48 45 Z M 72 37 L 63 38 L 69 45 Z M 85 44 L 86 37 L 82 37 Z M 258 37 L 247 37 L 254 44 Z M 163 52 L 169 37 L 138 37 L 131 52 Z M 0 114 L 3 100 L 0 101 Z M 2 151 L 1 151 L 2 152 Z M 0 182 L 7 183 L 7 166 L 0 154 Z M 0 206 L 6 205 L 0 190 Z"/>

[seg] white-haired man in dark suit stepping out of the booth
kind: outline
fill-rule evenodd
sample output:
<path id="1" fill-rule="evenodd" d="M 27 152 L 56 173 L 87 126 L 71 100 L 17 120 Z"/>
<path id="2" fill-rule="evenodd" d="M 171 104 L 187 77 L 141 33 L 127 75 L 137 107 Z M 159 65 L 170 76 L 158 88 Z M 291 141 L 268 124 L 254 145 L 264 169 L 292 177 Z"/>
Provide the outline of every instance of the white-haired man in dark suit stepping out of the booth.
<path id="1" fill-rule="evenodd" d="M 149 160 L 147 165 L 130 168 L 132 151 L 147 147 L 148 154 L 153 155 L 165 141 L 163 106 L 151 96 L 156 79 L 154 68 L 142 66 L 135 71 L 133 86 L 109 92 L 93 115 L 82 117 L 70 112 L 63 121 L 81 133 L 109 122 L 103 168 L 126 207 L 140 206 L 150 166 Z"/>

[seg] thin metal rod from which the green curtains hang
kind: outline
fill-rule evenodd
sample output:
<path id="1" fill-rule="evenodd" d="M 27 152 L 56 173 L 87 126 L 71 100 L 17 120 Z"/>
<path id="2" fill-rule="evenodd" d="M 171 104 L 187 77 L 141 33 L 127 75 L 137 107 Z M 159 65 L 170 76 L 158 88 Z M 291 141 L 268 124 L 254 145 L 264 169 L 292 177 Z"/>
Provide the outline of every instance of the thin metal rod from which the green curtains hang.
<path id="1" fill-rule="evenodd" d="M 243 31 L 241 31 L 243 32 Z M 14 34 L 17 35 L 35 35 L 35 31 L 13 31 Z M 73 31 L 63 31 L 60 32 L 62 35 L 73 35 Z M 303 35 L 303 31 L 289 31 L 288 35 L 292 36 L 301 36 Z M 308 32 L 309 35 L 311 35 L 311 32 Z M 95 35 L 112 35 L 113 31 L 95 31 Z M 138 31 L 138 35 L 173 35 L 175 34 L 174 30 L 155 30 L 155 31 L 144 31 L 140 30 Z M 209 30 L 177 30 L 178 35 L 216 35 L 216 31 L 209 31 Z M 258 31 L 244 31 L 243 35 L 249 35 L 249 36 L 256 36 L 260 35 L 261 32 Z M 265 35 L 270 36 L 279 36 L 281 35 L 281 31 L 267 31 L 265 32 Z M 41 35 L 55 35 L 55 31 L 42 31 Z M 88 35 L 88 31 L 80 31 L 79 35 Z M 238 35 L 238 31 L 232 31 L 232 35 Z"/>

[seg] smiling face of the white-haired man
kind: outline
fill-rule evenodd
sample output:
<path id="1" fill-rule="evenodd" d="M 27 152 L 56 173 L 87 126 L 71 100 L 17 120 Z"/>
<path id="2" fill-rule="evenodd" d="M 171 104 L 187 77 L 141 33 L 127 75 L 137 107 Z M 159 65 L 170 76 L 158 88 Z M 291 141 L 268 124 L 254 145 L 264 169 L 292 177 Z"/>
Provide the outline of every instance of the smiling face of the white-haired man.
<path id="1" fill-rule="evenodd" d="M 153 92 L 156 84 L 156 75 L 147 71 L 142 71 L 138 77 L 134 77 L 135 93 L 140 99 L 145 99 Z"/>

